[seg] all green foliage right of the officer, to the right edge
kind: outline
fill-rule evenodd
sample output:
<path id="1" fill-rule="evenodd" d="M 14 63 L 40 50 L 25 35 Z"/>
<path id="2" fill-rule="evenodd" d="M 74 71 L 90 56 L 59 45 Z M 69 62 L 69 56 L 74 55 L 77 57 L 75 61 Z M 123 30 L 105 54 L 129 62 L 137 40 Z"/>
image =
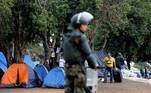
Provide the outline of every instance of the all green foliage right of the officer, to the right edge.
<path id="1" fill-rule="evenodd" d="M 151 1 L 148 0 L 104 0 L 98 11 L 96 48 L 101 48 L 107 39 L 107 50 L 151 55 L 150 9 Z"/>

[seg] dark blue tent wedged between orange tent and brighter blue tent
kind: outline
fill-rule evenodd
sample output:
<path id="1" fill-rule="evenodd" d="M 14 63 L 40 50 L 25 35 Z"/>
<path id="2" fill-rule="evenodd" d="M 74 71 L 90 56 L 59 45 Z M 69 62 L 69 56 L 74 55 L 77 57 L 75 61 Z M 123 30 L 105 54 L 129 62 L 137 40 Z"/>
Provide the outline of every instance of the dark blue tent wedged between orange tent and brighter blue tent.
<path id="1" fill-rule="evenodd" d="M 37 73 L 39 79 L 43 82 L 44 78 L 48 74 L 48 70 L 46 69 L 46 67 L 44 65 L 42 65 L 42 64 L 37 64 L 35 66 L 34 70 Z"/>

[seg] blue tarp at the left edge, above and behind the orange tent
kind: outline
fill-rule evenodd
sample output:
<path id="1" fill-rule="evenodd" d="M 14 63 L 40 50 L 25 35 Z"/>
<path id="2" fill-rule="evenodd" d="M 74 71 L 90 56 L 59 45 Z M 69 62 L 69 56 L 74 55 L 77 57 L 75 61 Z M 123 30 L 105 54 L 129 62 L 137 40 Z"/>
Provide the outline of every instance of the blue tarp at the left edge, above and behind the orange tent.
<path id="1" fill-rule="evenodd" d="M 0 52 L 0 69 L 2 69 L 3 72 L 6 72 L 7 70 L 7 61 L 2 52 Z"/>

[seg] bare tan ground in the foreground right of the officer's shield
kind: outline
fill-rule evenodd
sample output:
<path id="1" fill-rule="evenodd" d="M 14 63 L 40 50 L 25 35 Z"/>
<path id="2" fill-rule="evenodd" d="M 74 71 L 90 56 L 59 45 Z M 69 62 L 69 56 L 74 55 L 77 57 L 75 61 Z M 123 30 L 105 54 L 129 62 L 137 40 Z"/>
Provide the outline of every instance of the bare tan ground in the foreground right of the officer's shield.
<path id="1" fill-rule="evenodd" d="M 151 93 L 151 85 L 127 80 L 123 83 L 101 83 L 99 93 Z"/>

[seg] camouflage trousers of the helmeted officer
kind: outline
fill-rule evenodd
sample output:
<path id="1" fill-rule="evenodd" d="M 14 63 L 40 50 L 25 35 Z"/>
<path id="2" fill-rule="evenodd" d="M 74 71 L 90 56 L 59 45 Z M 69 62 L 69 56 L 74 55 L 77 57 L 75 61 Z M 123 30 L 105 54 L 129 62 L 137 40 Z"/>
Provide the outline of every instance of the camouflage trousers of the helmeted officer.
<path id="1" fill-rule="evenodd" d="M 86 75 L 80 65 L 65 65 L 65 93 L 85 93 Z"/>

